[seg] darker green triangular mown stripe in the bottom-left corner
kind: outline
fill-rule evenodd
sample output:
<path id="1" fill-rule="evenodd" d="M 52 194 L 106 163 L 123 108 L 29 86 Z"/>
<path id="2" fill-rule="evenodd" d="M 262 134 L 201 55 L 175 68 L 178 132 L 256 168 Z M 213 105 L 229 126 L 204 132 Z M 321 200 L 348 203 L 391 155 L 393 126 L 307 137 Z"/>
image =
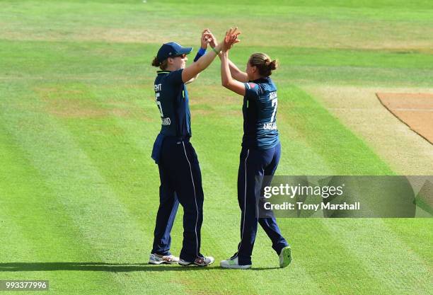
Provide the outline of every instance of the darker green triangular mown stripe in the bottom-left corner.
<path id="1" fill-rule="evenodd" d="M 94 253 L 83 243 L 64 205 L 57 202 L 50 187 L 45 185 L 45 178 L 33 168 L 2 119 L 0 117 L 0 231 L 4 237 L 0 243 L 1 277 L 48 279 L 53 292 L 89 294 L 89 289 L 98 289 L 105 294 L 121 293 L 109 273 L 88 275 L 83 272 L 86 270 L 81 266 L 83 262 L 97 268 L 92 262 Z"/>

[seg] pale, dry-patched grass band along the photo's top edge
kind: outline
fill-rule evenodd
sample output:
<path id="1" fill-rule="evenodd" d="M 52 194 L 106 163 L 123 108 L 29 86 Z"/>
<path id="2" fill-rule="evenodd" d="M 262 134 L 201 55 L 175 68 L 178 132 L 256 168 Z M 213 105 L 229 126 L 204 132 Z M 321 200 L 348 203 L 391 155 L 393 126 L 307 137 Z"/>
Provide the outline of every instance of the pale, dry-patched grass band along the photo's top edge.
<path id="1" fill-rule="evenodd" d="M 194 5 L 183 4 L 173 9 L 173 4 L 153 1 L 137 1 L 134 5 L 86 3 L 85 9 L 83 4 L 53 1 L 50 9 L 45 9 L 37 1 L 20 5 L 3 3 L 5 21 L 1 37 L 11 40 L 176 40 L 197 46 L 198 35 L 194 33 L 200 32 L 197 25 L 222 33 L 233 25 L 232 16 L 236 15 L 236 25 L 248 36 L 250 44 L 258 46 L 267 40 L 267 44 L 283 47 L 299 44 L 306 47 L 431 47 L 425 36 L 431 32 L 432 13 L 421 9 L 393 8 L 390 12 L 389 6 L 371 9 L 356 5 L 354 8 L 309 5 L 306 8 L 305 3 L 268 5 L 267 9 L 232 3 L 201 4 L 201 9 L 195 9 Z M 23 11 L 25 17 L 16 18 Z M 167 15 L 171 18 L 166 18 Z M 177 20 L 177 30 L 171 28 L 172 19 Z M 290 37 L 281 38 L 281 32 L 287 31 Z M 316 34 L 311 34 L 312 31 Z"/>

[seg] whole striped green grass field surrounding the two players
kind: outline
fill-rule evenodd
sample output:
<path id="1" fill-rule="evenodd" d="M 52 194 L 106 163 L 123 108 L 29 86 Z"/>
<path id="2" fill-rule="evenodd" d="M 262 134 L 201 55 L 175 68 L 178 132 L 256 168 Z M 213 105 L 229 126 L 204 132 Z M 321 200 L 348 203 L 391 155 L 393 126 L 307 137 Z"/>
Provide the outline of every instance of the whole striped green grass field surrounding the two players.
<path id="1" fill-rule="evenodd" d="M 256 51 L 279 59 L 277 175 L 433 175 L 433 146 L 374 97 L 433 93 L 432 1 L 200 2 L 0 1 L 0 279 L 48 279 L 51 294 L 432 294 L 430 218 L 279 219 L 285 269 L 260 230 L 252 270 L 146 264 L 150 62 L 163 42 L 197 50 L 203 28 L 241 28 L 241 68 Z M 189 92 L 202 253 L 219 262 L 238 243 L 241 98 L 220 86 L 219 61 Z"/>

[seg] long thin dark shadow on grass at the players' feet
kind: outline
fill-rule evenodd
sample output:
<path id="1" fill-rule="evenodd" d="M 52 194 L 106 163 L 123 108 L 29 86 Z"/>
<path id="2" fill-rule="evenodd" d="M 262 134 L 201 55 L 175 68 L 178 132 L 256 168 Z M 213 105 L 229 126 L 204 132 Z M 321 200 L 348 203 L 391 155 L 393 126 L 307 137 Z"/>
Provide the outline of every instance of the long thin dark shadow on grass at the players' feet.
<path id="1" fill-rule="evenodd" d="M 256 267 L 251 270 L 274 270 L 279 267 Z M 91 272 L 185 272 L 188 270 L 224 270 L 218 265 L 210 267 L 180 265 L 149 265 L 147 263 L 104 262 L 6 262 L 0 263 L 0 272 L 50 272 L 56 270 L 79 270 Z M 229 270 L 225 270 L 229 271 Z"/>

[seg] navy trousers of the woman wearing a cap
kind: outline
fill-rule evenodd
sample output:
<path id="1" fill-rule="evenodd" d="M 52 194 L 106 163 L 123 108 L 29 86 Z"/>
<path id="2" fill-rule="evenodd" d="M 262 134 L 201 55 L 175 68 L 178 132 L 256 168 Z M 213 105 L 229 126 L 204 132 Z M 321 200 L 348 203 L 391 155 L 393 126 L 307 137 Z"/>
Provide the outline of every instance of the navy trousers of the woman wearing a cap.
<path id="1" fill-rule="evenodd" d="M 183 207 L 183 246 L 180 258 L 194 261 L 197 257 L 203 257 L 200 254 L 202 173 L 190 141 L 166 137 L 158 168 L 161 186 L 152 253 L 171 255 L 170 233 L 180 203 Z"/>

